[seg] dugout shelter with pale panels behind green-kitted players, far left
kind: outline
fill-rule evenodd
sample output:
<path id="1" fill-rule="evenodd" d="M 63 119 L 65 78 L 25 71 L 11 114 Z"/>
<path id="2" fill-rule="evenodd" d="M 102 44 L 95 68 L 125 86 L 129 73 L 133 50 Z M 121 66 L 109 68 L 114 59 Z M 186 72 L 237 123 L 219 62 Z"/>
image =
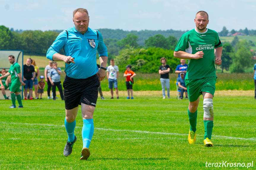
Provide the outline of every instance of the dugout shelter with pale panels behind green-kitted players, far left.
<path id="1" fill-rule="evenodd" d="M 2 69 L 6 69 L 6 71 L 8 72 L 10 67 L 11 67 L 11 63 L 8 60 L 8 56 L 9 55 L 13 55 L 15 57 L 15 61 L 20 65 L 20 72 L 23 78 L 23 51 L 22 50 L 0 50 L 0 73 L 2 73 Z M 23 98 L 23 86 L 20 86 L 20 95 Z M 10 90 L 9 87 L 4 90 L 6 93 L 6 96 L 10 96 Z M 4 99 L 4 95 L 2 93 L 2 90 L 0 92 L 0 100 Z M 10 97 L 9 97 L 10 99 Z"/>

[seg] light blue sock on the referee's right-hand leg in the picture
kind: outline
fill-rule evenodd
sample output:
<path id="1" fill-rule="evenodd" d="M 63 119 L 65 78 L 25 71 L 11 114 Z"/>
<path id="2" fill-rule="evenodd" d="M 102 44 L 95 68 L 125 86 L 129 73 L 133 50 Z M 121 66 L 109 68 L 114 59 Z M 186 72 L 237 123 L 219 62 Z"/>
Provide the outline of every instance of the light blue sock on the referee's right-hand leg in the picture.
<path id="1" fill-rule="evenodd" d="M 94 124 L 93 119 L 83 119 L 84 125 L 82 129 L 83 148 L 88 148 L 93 138 Z"/>

